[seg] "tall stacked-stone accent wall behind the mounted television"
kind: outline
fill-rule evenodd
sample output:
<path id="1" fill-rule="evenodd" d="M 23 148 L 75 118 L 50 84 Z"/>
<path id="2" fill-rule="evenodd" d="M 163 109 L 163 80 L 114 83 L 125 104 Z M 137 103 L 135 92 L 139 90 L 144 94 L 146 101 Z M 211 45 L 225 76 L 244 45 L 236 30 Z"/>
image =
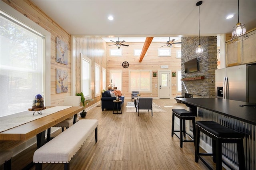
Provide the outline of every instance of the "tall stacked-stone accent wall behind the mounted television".
<path id="1" fill-rule="evenodd" d="M 182 37 L 181 70 L 182 78 L 204 76 L 202 80 L 189 80 L 182 83 L 182 96 L 185 93 L 200 95 L 203 98 L 215 97 L 215 69 L 217 69 L 217 37 L 200 37 L 203 53 L 196 54 L 198 37 Z M 184 63 L 197 58 L 198 71 L 185 73 Z"/>

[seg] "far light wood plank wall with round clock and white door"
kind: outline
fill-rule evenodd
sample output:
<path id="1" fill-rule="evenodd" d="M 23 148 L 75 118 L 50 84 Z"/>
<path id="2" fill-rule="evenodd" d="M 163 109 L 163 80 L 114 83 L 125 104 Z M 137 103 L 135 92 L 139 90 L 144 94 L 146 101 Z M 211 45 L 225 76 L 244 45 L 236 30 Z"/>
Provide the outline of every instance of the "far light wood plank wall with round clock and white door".
<path id="1" fill-rule="evenodd" d="M 134 57 L 134 49 L 142 49 L 144 42 L 128 43 L 129 47 L 121 46 L 122 57 L 110 57 L 109 50 L 117 49 L 116 45 L 113 43 L 107 43 L 107 85 L 109 83 L 109 72 L 110 70 L 122 70 L 123 80 L 122 80 L 122 94 L 130 97 L 129 93 L 129 70 L 151 70 L 152 71 L 152 93 L 141 93 L 144 97 L 158 97 L 158 88 L 155 88 L 155 84 L 158 84 L 158 71 L 171 70 L 176 72 L 176 70 L 181 70 L 181 59 L 176 58 L 176 51 L 181 50 L 181 47 L 171 47 L 170 57 L 158 57 L 158 48 L 164 44 L 159 42 L 152 42 L 148 48 L 146 57 L 143 58 L 142 62 L 139 62 L 139 57 Z M 110 45 L 110 46 L 109 46 Z M 165 48 L 165 47 L 162 47 Z M 128 68 L 123 68 L 122 63 L 127 61 L 129 63 Z M 161 69 L 161 65 L 168 65 L 168 69 Z M 157 77 L 153 77 L 153 72 L 157 72 Z M 171 77 L 171 87 L 172 94 L 171 98 L 176 97 L 176 95 L 181 95 L 181 93 L 176 92 L 176 77 Z"/>

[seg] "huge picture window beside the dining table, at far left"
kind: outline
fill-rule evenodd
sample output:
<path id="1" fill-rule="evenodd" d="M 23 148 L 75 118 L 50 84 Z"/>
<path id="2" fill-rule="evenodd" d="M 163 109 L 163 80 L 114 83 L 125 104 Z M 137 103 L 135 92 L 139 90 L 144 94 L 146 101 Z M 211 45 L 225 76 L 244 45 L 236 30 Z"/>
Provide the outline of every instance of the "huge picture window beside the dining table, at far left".
<path id="1" fill-rule="evenodd" d="M 45 76 L 49 74 L 46 34 L 49 38 L 50 33 L 43 31 L 41 34 L 31 29 L 20 22 L 25 20 L 23 16 L 18 16 L 17 20 L 6 14 L 2 7 L 9 8 L 3 3 L 0 11 L 0 117 L 27 111 L 37 94 L 44 97 L 44 105 L 50 103 L 50 84 L 46 84 L 49 79 Z M 27 24 L 30 22 L 26 21 Z"/>

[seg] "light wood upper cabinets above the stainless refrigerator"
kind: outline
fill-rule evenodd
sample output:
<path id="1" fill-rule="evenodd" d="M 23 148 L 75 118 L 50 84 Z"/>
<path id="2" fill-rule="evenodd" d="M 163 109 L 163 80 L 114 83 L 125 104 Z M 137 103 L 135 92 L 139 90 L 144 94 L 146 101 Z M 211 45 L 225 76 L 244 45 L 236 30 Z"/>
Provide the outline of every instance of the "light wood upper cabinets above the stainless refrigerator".
<path id="1" fill-rule="evenodd" d="M 256 29 L 247 35 L 244 41 L 226 43 L 226 67 L 256 62 Z"/>

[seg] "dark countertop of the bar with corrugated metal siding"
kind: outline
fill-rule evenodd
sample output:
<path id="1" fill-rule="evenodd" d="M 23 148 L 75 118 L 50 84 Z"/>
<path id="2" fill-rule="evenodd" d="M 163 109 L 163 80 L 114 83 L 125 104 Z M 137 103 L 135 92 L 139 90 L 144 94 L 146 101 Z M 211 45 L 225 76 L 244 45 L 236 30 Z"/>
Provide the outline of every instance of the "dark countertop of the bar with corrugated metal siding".
<path id="1" fill-rule="evenodd" d="M 256 125 L 256 104 L 218 98 L 175 98 L 184 104 L 197 106 L 252 125 Z M 244 106 L 254 105 L 254 107 Z"/>

